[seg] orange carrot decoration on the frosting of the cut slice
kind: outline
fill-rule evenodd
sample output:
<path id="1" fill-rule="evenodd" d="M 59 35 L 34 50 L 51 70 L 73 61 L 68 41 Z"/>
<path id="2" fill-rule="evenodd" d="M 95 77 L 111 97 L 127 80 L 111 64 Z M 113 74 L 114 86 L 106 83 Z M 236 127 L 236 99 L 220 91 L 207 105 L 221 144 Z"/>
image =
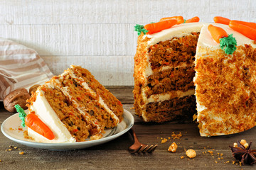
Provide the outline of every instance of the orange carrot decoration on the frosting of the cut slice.
<path id="1" fill-rule="evenodd" d="M 25 124 L 28 126 L 28 128 L 31 128 L 31 130 L 43 135 L 48 140 L 54 139 L 53 132 L 45 123 L 42 122 L 40 118 L 38 118 L 37 115 L 33 113 L 26 115 Z"/>

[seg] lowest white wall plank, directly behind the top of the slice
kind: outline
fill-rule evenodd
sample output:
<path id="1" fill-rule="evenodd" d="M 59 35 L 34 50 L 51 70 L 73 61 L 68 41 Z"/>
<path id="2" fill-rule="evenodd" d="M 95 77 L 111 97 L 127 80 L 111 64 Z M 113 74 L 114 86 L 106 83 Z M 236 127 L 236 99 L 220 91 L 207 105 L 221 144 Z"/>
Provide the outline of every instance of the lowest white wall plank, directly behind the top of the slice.
<path id="1" fill-rule="evenodd" d="M 105 86 L 133 86 L 133 56 L 42 56 L 55 75 L 71 64 L 88 69 Z"/>

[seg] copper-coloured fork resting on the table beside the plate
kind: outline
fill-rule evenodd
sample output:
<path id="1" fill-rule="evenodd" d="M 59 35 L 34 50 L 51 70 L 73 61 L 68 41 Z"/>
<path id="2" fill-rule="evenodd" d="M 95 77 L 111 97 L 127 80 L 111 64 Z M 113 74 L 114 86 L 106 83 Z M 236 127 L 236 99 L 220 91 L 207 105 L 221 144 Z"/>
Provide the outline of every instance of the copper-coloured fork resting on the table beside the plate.
<path id="1" fill-rule="evenodd" d="M 134 153 L 139 153 L 139 152 L 142 152 L 142 153 L 145 153 L 145 152 L 148 152 L 148 153 L 151 153 L 153 152 L 156 147 L 158 145 L 144 145 L 142 144 L 141 142 L 139 142 L 135 132 L 133 129 L 130 129 L 129 132 L 131 133 L 132 137 L 134 138 L 134 144 L 131 145 L 128 150 L 131 154 L 134 154 Z"/>

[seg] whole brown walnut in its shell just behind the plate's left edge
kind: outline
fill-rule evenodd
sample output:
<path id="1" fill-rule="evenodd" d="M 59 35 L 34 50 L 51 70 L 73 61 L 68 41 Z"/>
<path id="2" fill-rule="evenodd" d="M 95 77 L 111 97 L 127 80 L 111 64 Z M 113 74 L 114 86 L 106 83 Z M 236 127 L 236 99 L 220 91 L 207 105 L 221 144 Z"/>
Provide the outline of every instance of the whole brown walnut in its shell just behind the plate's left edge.
<path id="1" fill-rule="evenodd" d="M 24 110 L 27 109 L 26 107 L 26 100 L 31 96 L 28 94 L 28 91 L 25 88 L 16 89 L 15 91 L 11 91 L 4 98 L 4 108 L 9 112 L 16 112 L 16 108 L 14 106 L 18 104 Z"/>

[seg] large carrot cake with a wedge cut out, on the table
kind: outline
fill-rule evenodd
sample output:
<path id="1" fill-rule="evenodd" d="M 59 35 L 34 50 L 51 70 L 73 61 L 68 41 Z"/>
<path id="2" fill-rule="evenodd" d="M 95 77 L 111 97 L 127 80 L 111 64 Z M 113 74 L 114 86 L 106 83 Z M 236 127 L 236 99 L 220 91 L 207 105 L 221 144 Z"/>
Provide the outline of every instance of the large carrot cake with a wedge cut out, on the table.
<path id="1" fill-rule="evenodd" d="M 164 21 L 136 27 L 140 34 L 134 56 L 136 114 L 145 122 L 164 123 L 192 119 L 196 113 L 193 118 L 201 136 L 254 127 L 255 40 L 222 23 L 174 20 L 169 27 Z M 165 28 L 156 30 L 163 24 Z M 218 29 L 212 31 L 210 25 L 224 30 L 227 35 L 220 38 L 226 39 L 216 42 Z"/>

